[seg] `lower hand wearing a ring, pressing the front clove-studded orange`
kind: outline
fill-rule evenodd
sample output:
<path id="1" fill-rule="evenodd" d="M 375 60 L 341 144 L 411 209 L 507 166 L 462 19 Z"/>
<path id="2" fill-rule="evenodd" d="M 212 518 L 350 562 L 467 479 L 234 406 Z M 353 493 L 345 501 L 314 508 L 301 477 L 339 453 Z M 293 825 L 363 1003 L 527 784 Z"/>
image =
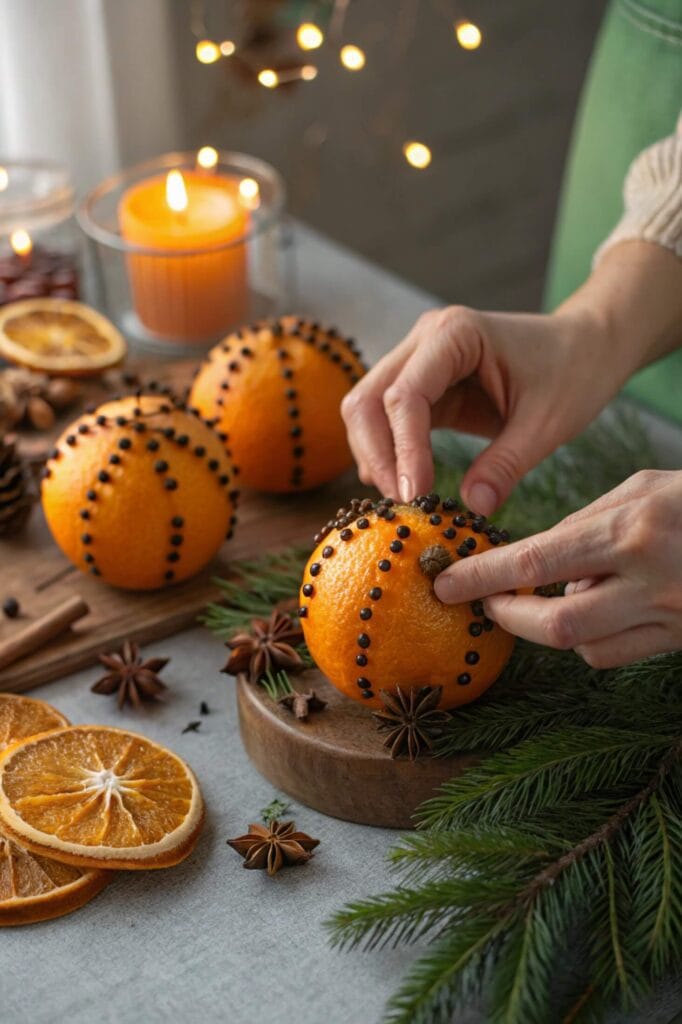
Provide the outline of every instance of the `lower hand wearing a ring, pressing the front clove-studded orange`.
<path id="1" fill-rule="evenodd" d="M 505 591 L 571 581 L 564 597 Z M 644 470 L 552 529 L 441 572 L 447 604 L 536 643 L 574 648 L 596 669 L 682 649 L 682 470 Z"/>

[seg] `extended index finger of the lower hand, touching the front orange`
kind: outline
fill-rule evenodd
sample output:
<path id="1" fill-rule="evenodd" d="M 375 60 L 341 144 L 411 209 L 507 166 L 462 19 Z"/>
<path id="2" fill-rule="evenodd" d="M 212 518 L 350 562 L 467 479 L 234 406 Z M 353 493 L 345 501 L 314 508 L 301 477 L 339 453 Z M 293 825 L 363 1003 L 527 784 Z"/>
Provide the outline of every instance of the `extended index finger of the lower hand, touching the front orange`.
<path id="1" fill-rule="evenodd" d="M 615 556 L 607 538 L 600 516 L 580 524 L 553 526 L 455 562 L 436 578 L 436 597 L 445 604 L 459 604 L 521 587 L 608 574 Z"/>

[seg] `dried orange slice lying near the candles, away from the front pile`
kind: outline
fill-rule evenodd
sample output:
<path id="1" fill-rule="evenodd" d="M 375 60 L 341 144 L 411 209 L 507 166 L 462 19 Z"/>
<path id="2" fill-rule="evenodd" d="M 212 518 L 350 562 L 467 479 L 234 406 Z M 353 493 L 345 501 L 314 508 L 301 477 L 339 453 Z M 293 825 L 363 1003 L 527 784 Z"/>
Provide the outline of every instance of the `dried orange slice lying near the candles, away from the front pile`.
<path id="1" fill-rule="evenodd" d="M 57 377 L 88 377 L 125 354 L 120 331 L 83 302 L 24 299 L 0 309 L 0 355 L 10 362 Z"/>

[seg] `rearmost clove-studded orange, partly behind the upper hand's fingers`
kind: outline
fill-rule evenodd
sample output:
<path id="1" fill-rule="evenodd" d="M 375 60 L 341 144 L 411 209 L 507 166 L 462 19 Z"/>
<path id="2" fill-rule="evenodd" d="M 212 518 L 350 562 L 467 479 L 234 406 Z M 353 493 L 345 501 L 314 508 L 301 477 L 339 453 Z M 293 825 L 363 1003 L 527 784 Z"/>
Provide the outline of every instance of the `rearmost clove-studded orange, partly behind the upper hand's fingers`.
<path id="1" fill-rule="evenodd" d="M 216 345 L 188 400 L 228 434 L 246 486 L 304 490 L 351 465 L 340 406 L 364 373 L 352 341 L 283 316 Z"/>

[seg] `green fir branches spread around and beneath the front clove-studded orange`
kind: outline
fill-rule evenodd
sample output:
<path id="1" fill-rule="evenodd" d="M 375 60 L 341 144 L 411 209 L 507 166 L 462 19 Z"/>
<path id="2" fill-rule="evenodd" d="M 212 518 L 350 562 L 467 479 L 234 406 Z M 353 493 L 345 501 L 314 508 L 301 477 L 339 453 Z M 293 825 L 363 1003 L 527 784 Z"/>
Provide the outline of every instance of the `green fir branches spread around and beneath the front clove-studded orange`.
<path id="1" fill-rule="evenodd" d="M 457 493 L 470 450 L 438 432 L 434 451 L 437 488 Z M 530 473 L 500 519 L 517 537 L 547 528 L 653 464 L 626 408 Z M 243 563 L 207 625 L 227 636 L 291 599 L 306 554 Z M 385 1020 L 444 1024 L 480 998 L 495 1024 L 636 1006 L 682 963 L 682 653 L 597 671 L 519 641 L 435 741 L 436 756 L 462 752 L 479 763 L 389 853 L 395 888 L 329 923 L 340 946 L 426 947 Z"/>

